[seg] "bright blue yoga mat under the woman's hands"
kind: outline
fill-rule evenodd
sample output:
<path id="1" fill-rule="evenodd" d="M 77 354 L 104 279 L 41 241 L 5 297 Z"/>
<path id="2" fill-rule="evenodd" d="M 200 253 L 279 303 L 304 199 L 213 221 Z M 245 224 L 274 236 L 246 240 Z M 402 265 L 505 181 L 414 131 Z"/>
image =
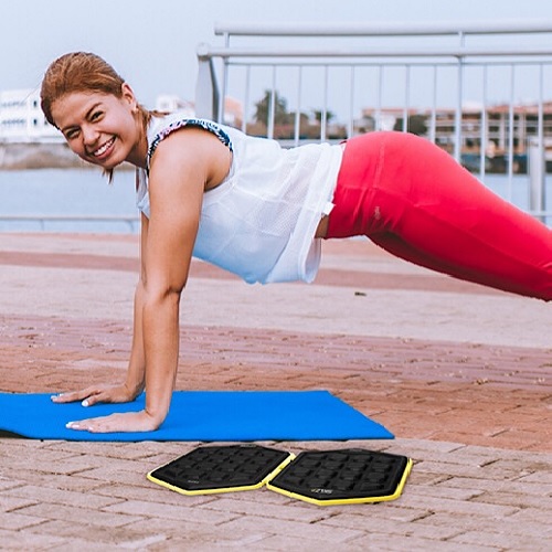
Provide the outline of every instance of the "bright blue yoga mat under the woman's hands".
<path id="1" fill-rule="evenodd" d="M 132 403 L 56 404 L 47 393 L 0 393 L 0 429 L 22 437 L 64 440 L 344 440 L 393 434 L 328 391 L 176 391 L 156 432 L 92 434 L 67 422 L 144 408 Z"/>

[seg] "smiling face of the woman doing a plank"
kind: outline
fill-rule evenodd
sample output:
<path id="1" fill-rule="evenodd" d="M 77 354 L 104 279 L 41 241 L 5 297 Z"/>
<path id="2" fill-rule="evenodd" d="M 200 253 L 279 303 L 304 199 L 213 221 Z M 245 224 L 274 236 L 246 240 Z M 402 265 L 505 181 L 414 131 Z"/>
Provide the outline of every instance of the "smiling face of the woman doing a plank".
<path id="1" fill-rule="evenodd" d="M 98 92 L 66 94 L 53 103 L 52 117 L 81 159 L 104 170 L 123 161 L 145 166 L 145 132 L 128 85 L 123 85 L 120 98 Z"/>

